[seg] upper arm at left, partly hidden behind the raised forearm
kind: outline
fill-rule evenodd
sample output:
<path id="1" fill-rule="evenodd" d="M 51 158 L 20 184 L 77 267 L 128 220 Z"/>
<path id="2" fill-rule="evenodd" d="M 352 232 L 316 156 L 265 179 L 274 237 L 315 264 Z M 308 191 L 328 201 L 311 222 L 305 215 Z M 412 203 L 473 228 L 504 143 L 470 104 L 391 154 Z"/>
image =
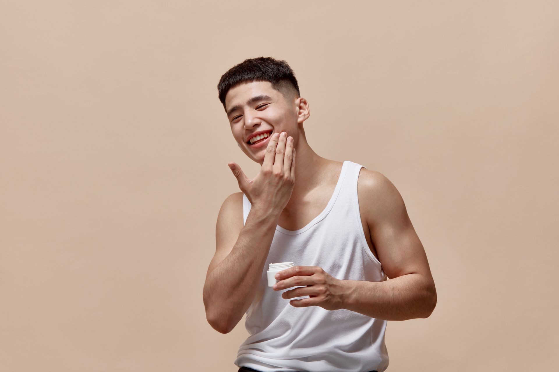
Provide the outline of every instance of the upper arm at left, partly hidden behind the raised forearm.
<path id="1" fill-rule="evenodd" d="M 215 254 L 208 267 L 206 278 L 233 249 L 243 229 L 243 193 L 229 195 L 219 210 L 215 226 Z"/>

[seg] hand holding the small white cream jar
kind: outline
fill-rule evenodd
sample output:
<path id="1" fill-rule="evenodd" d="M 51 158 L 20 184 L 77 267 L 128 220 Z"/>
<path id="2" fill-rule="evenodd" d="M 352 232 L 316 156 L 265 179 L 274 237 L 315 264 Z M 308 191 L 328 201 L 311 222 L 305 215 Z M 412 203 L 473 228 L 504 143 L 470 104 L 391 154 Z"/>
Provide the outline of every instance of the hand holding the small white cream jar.
<path id="1" fill-rule="evenodd" d="M 274 291 L 291 289 L 282 293 L 283 298 L 310 296 L 309 298 L 292 299 L 289 303 L 295 307 L 320 306 L 326 310 L 343 308 L 345 287 L 343 280 L 330 276 L 318 266 L 293 266 L 276 274 L 279 280 L 273 285 Z"/>

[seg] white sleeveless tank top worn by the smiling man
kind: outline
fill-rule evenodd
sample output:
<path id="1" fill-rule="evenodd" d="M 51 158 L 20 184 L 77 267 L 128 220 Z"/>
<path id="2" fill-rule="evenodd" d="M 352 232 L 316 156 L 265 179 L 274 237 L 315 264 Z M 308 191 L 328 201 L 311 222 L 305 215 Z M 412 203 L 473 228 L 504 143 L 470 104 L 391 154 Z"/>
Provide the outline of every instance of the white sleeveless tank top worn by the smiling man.
<path id="1" fill-rule="evenodd" d="M 235 365 L 263 372 L 382 372 L 388 367 L 386 320 L 346 309 L 293 307 L 289 303 L 293 298 L 281 297 L 288 289 L 268 287 L 266 274 L 270 263 L 292 261 L 320 266 L 338 279 L 386 280 L 367 245 L 359 215 L 361 167 L 343 162 L 328 205 L 304 228 L 292 231 L 276 226 L 258 292 L 247 310 L 245 327 L 250 336 L 239 347 Z M 243 195 L 243 224 L 250 206 Z"/>

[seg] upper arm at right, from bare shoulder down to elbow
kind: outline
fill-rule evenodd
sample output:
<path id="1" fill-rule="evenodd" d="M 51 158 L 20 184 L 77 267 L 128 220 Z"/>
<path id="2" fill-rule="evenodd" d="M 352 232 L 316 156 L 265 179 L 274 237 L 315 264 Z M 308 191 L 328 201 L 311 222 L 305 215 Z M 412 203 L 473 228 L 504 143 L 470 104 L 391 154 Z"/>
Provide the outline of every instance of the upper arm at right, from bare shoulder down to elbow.
<path id="1" fill-rule="evenodd" d="M 376 172 L 375 202 L 370 214 L 371 240 L 389 278 L 418 273 L 431 278 L 427 255 L 415 232 L 400 192 Z"/>

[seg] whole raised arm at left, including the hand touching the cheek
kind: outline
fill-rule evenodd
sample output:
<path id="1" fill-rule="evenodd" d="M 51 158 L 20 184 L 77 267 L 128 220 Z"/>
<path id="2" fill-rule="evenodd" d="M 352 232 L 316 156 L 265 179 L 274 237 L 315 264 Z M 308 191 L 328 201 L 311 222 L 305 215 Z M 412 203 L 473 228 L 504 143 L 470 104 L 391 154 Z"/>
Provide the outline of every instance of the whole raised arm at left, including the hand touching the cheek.
<path id="1" fill-rule="evenodd" d="M 233 330 L 256 295 L 276 225 L 293 191 L 293 138 L 272 136 L 252 180 L 235 163 L 230 167 L 251 208 L 243 226 L 243 193 L 238 192 L 224 201 L 217 218 L 216 253 L 206 274 L 203 301 L 207 321 L 221 333 Z"/>

